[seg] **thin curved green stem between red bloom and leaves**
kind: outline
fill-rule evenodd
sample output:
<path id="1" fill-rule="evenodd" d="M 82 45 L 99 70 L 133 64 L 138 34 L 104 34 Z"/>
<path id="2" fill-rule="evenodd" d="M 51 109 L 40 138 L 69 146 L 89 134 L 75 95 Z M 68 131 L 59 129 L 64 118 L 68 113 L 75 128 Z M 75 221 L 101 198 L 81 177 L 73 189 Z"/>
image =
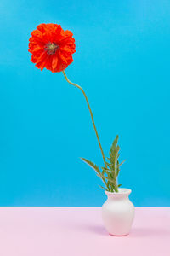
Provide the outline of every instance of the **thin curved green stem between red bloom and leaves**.
<path id="1" fill-rule="evenodd" d="M 87 102 L 87 104 L 88 104 L 88 109 L 89 109 L 89 112 L 90 112 L 90 115 L 91 115 L 92 123 L 93 123 L 93 125 L 94 125 L 94 131 L 95 131 L 96 137 L 97 137 L 97 139 L 98 139 L 99 148 L 100 148 L 100 151 L 101 151 L 101 154 L 102 154 L 104 163 L 105 163 L 105 168 L 107 168 L 107 165 L 106 165 L 106 162 L 105 162 L 105 154 L 104 154 L 104 152 L 103 152 L 103 149 L 102 149 L 102 147 L 101 147 L 101 143 L 100 143 L 100 141 L 99 141 L 99 135 L 98 135 L 98 131 L 97 131 L 97 129 L 96 129 L 96 125 L 95 125 L 95 123 L 94 123 L 94 115 L 93 115 L 93 113 L 92 113 L 92 109 L 90 108 L 90 104 L 89 104 L 89 102 L 88 102 L 88 97 L 86 96 L 85 91 L 82 89 L 82 87 L 81 87 L 80 85 L 75 84 L 75 83 L 72 83 L 72 82 L 67 78 L 67 76 L 66 76 L 66 74 L 65 74 L 65 71 L 63 71 L 63 74 L 64 74 L 64 76 L 65 76 L 66 81 L 67 81 L 69 84 L 72 84 L 73 86 L 76 86 L 78 89 L 82 90 L 83 96 L 85 97 L 86 102 Z"/>

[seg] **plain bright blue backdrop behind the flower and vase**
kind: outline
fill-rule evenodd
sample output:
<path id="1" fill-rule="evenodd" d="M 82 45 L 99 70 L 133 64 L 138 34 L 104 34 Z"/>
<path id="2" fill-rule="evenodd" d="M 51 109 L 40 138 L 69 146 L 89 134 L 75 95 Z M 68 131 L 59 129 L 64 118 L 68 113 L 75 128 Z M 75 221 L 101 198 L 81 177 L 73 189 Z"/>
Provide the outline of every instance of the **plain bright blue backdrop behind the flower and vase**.
<path id="1" fill-rule="evenodd" d="M 103 165 L 81 91 L 27 51 L 31 31 L 54 22 L 74 33 L 66 73 L 88 94 L 106 155 L 120 136 L 119 183 L 135 206 L 170 207 L 170 2 L 3 0 L 0 9 L 0 205 L 105 201 L 79 159 Z"/>

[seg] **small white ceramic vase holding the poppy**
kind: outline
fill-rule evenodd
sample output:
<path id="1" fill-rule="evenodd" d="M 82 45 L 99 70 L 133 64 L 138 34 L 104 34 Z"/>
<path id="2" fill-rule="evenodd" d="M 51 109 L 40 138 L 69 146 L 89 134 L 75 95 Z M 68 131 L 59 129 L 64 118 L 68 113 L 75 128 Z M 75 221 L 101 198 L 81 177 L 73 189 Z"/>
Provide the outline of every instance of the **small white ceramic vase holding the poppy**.
<path id="1" fill-rule="evenodd" d="M 105 229 L 113 236 L 126 236 L 132 227 L 134 206 L 129 200 L 131 189 L 119 189 L 119 192 L 108 192 L 107 200 L 102 207 L 102 218 Z"/>

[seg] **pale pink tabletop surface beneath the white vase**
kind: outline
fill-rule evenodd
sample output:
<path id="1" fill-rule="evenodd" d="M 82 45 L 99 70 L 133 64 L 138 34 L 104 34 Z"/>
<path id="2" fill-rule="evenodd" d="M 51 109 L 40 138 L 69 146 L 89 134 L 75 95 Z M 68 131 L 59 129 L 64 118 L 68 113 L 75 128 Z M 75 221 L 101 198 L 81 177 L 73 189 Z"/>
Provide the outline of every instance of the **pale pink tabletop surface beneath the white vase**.
<path id="1" fill-rule="evenodd" d="M 0 207 L 0 256 L 170 256 L 170 208 L 136 208 L 128 236 L 99 207 Z"/>

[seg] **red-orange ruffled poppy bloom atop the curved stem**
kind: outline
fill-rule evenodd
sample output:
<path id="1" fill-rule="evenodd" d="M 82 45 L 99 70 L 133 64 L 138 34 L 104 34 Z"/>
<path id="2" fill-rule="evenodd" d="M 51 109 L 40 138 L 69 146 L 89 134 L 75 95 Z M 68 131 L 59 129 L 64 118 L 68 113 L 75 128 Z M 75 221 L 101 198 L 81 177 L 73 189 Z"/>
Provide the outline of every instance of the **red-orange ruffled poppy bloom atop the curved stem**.
<path id="1" fill-rule="evenodd" d="M 44 67 L 52 72 L 65 70 L 73 61 L 72 54 L 76 52 L 72 36 L 70 31 L 64 31 L 57 24 L 38 25 L 29 39 L 31 61 L 41 70 Z"/>

